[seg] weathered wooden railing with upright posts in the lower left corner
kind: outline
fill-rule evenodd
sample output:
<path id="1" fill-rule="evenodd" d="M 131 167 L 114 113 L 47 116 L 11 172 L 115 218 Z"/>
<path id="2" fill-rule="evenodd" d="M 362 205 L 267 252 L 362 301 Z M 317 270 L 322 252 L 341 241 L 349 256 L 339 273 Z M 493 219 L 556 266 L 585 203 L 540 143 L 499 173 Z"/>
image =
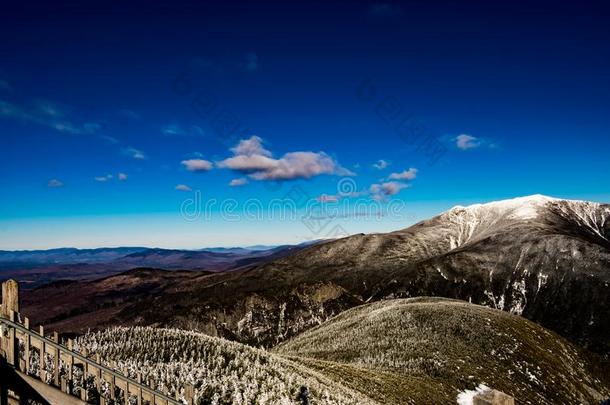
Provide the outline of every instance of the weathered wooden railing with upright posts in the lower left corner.
<path id="1" fill-rule="evenodd" d="M 4 311 L 2 310 L 4 309 Z M 8 313 L 8 318 L 2 313 Z M 23 320 L 21 320 L 23 319 Z M 122 393 L 123 401 L 126 405 L 130 404 L 130 397 L 135 398 L 138 405 L 178 405 L 184 404 L 179 399 L 177 392 L 175 398 L 172 398 L 169 393 L 164 394 L 157 391 L 142 382 L 142 376 L 138 373 L 136 379 L 128 377 L 125 373 L 121 373 L 112 367 L 101 364 L 99 355 L 95 355 L 92 359 L 87 355 L 85 348 L 80 352 L 74 350 L 72 339 L 67 340 L 67 344 L 63 345 L 59 341 L 57 332 L 53 332 L 51 337 L 45 336 L 44 328 L 40 326 L 38 331 L 30 328 L 30 321 L 26 317 L 15 311 L 1 308 L 0 305 L 0 356 L 4 357 L 6 363 L 14 367 L 15 370 L 26 375 L 38 376 L 41 381 L 63 391 L 70 395 L 77 395 L 84 402 L 89 402 L 93 398 L 88 398 L 88 389 L 86 388 L 85 379 L 93 376 L 93 385 L 96 400 L 100 405 L 108 403 L 120 403 L 116 397 L 116 389 L 119 388 Z M 37 370 L 32 370 L 31 354 L 33 350 L 39 353 L 39 364 Z M 45 367 L 45 354 L 52 358 L 53 366 L 51 371 L 47 371 Z M 60 361 L 67 366 L 67 373 L 60 372 Z M 74 369 L 79 368 L 83 373 L 83 380 L 80 385 L 75 381 Z M 106 387 L 107 389 L 103 389 Z M 74 389 L 76 388 L 76 389 Z M 188 405 L 193 405 L 194 387 L 186 384 L 184 387 L 184 395 L 182 396 Z M 102 395 L 102 391 L 107 392 L 107 396 Z"/>

